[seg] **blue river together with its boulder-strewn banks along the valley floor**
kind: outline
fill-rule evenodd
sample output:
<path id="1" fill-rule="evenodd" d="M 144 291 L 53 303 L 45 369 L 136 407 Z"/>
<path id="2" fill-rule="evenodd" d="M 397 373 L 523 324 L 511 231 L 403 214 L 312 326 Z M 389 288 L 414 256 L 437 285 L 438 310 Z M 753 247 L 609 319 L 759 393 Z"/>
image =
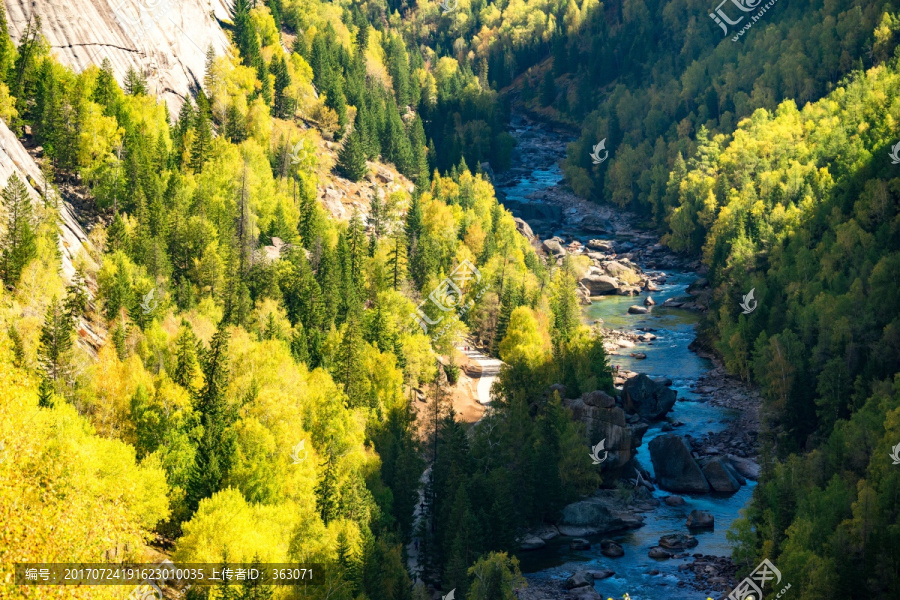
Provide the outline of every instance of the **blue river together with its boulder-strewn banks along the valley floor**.
<path id="1" fill-rule="evenodd" d="M 725 531 L 749 501 L 758 474 L 759 397 L 714 357 L 692 350 L 709 295 L 702 266 L 668 252 L 653 233 L 635 225 L 633 215 L 586 202 L 561 185 L 564 133 L 521 116 L 514 116 L 512 129 L 519 145 L 513 168 L 495 179 L 498 193 L 533 231 L 534 244 L 548 261 L 559 262 L 564 254 L 590 259 L 581 280 L 583 317 L 601 330 L 617 368 L 617 398 L 566 402 L 576 418 L 591 426 L 598 414 L 601 420 L 613 415 L 612 421 L 627 414 L 621 426 L 600 425 L 606 427 L 601 431 L 625 432 L 630 440 L 619 441 L 610 452 L 616 468 L 600 467 L 607 489 L 577 503 L 582 509 L 599 506 L 615 518 L 601 519 L 607 529 L 583 529 L 583 539 L 574 537 L 578 530 L 571 526 L 532 532 L 540 538 L 530 537 L 536 549 L 517 552 L 530 586 L 520 598 L 596 600 L 626 592 L 633 600 L 724 596 L 736 583 Z M 650 386 L 654 398 L 670 395 L 660 391 L 662 386 L 674 392 L 670 414 L 647 415 L 629 406 L 630 394 L 623 388 L 637 389 L 639 373 L 652 380 L 640 389 Z M 650 446 L 654 440 L 657 447 L 675 443 L 673 438 L 683 441 L 686 460 L 702 465 L 710 481 L 718 483 L 714 468 L 724 466 L 741 471 L 735 479 L 743 484 L 728 493 L 661 490 L 654 468 L 660 453 L 651 457 Z M 575 510 L 570 508 L 570 513 Z M 708 515 L 714 527 L 689 529 L 687 519 L 694 514 Z M 664 547 L 671 536 L 688 532 L 686 547 Z M 613 546 L 621 553 L 610 551 Z"/>

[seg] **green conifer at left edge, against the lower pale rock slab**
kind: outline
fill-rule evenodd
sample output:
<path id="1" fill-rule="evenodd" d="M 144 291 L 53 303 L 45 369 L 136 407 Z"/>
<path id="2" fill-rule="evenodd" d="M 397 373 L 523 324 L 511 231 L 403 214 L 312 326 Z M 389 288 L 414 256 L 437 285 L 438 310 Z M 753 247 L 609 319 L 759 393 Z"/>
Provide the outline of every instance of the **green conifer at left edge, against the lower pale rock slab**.
<path id="1" fill-rule="evenodd" d="M 15 285 L 22 269 L 37 256 L 31 198 L 16 173 L 6 182 L 2 198 L 7 216 L 6 231 L 0 236 L 0 277 L 7 285 Z"/>

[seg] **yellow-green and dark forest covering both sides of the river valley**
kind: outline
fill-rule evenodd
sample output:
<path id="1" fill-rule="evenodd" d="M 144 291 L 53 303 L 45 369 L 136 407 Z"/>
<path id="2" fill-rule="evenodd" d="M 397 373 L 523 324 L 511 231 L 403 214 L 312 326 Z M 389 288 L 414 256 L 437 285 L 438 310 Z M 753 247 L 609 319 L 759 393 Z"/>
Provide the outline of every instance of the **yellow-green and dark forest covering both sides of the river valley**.
<path id="1" fill-rule="evenodd" d="M 691 348 L 759 399 L 721 585 L 616 585 L 724 598 L 766 559 L 765 598 L 900 598 L 900 6 L 782 0 L 738 36 L 697 0 L 223 4 L 178 106 L 0 5 L 0 598 L 149 600 L 15 564 L 163 559 L 319 580 L 160 600 L 621 597 L 571 569 L 550 593 L 525 553 L 605 549 L 563 529 L 590 499 L 668 502 L 635 453 L 683 393 L 635 408 L 628 346 L 586 316 L 598 273 L 641 277 L 504 205 L 523 117 L 566 132 L 578 210 L 693 265 Z M 629 521 L 610 505 L 591 518 Z"/>

